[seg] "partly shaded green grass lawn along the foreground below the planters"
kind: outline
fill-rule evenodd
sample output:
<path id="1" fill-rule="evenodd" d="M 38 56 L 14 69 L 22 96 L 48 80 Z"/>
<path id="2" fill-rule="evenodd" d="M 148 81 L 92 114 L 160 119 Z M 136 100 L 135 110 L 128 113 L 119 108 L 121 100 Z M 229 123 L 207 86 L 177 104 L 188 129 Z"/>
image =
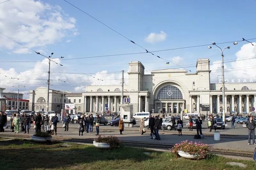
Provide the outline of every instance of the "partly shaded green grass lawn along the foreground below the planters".
<path id="1" fill-rule="evenodd" d="M 175 169 L 175 170 L 223 170 L 243 169 L 225 165 L 235 161 L 256 169 L 253 161 L 226 159 L 210 156 L 203 160 L 174 159 L 171 152 L 157 152 L 140 148 L 122 147 L 102 150 L 92 145 L 36 144 L 23 141 L 22 144 L 8 143 L 0 146 L 0 169 Z M 150 155 L 144 154 L 150 152 Z"/>

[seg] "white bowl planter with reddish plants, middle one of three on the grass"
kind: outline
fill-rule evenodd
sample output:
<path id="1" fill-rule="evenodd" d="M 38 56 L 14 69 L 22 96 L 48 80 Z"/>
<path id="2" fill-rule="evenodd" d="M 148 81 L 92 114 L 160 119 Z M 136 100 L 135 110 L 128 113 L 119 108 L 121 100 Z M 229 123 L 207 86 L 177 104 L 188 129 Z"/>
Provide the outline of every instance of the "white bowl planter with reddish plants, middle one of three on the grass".
<path id="1" fill-rule="evenodd" d="M 119 148 L 121 145 L 118 137 L 108 136 L 108 137 L 97 137 L 93 141 L 93 145 L 100 148 Z M 109 147 L 107 147 L 107 145 Z"/>

